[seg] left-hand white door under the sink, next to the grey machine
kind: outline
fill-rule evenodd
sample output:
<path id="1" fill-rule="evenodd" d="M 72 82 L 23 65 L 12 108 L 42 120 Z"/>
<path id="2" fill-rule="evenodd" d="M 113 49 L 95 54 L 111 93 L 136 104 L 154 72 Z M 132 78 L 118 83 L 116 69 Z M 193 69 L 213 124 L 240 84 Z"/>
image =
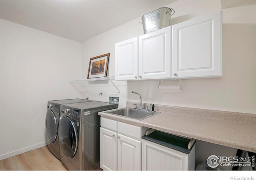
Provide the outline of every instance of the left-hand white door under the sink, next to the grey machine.
<path id="1" fill-rule="evenodd" d="M 117 133 L 100 128 L 100 168 L 117 170 Z"/>

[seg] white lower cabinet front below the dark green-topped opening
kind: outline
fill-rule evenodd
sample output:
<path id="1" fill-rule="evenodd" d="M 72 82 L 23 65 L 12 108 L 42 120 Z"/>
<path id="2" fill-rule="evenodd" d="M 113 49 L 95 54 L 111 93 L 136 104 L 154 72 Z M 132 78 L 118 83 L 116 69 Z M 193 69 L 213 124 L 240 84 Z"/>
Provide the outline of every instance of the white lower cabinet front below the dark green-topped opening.
<path id="1" fill-rule="evenodd" d="M 188 154 L 142 140 L 142 170 L 188 170 Z"/>

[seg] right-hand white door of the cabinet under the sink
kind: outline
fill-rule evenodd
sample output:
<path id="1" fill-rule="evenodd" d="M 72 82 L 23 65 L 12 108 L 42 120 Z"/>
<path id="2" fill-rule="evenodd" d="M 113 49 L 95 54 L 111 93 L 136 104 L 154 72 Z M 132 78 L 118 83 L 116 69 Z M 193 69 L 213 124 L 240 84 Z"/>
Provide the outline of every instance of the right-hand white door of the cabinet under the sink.
<path id="1" fill-rule="evenodd" d="M 141 170 L 141 142 L 118 134 L 118 170 Z"/>

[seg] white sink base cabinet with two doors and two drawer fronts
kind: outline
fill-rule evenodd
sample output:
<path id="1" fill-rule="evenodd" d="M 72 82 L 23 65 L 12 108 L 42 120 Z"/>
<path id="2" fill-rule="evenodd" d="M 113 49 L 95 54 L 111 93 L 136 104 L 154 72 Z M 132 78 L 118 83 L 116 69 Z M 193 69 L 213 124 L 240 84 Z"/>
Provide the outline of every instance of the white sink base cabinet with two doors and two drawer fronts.
<path id="1" fill-rule="evenodd" d="M 141 170 L 140 134 L 141 127 L 101 118 L 100 168 Z"/>

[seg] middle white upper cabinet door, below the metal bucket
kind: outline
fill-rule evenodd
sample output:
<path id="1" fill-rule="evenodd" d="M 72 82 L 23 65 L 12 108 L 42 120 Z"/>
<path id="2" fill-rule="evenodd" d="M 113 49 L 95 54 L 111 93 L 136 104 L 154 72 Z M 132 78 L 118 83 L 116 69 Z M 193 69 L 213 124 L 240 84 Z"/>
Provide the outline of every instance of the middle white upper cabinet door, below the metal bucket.
<path id="1" fill-rule="evenodd" d="M 171 78 L 171 26 L 139 36 L 139 79 Z"/>

